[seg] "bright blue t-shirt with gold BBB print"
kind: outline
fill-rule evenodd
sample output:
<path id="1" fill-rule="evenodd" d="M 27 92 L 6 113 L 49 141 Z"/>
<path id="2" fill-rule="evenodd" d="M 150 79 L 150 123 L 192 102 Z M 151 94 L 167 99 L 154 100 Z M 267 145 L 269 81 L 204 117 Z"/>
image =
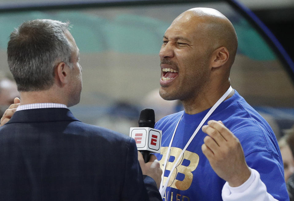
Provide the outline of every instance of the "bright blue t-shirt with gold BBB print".
<path id="1" fill-rule="evenodd" d="M 156 129 L 162 130 L 161 154 L 155 155 L 163 167 L 174 129 L 183 115 L 172 142 L 163 184 L 179 154 L 208 110 L 194 115 L 183 111 L 178 112 L 160 119 L 155 124 Z M 237 91 L 216 108 L 207 121 L 209 120 L 221 120 L 239 139 L 247 165 L 259 172 L 267 192 L 279 201 L 289 200 L 284 181 L 282 157 L 273 130 Z M 206 135 L 200 129 L 184 152 L 170 177 L 163 201 L 222 200 L 221 191 L 225 180 L 213 171 L 201 150 Z"/>

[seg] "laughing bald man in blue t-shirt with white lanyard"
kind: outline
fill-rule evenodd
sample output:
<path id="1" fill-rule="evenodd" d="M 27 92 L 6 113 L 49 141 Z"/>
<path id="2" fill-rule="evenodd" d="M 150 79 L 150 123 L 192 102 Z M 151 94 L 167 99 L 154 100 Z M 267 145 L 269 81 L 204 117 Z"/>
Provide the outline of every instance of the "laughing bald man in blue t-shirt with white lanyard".
<path id="1" fill-rule="evenodd" d="M 166 30 L 160 96 L 185 111 L 160 119 L 163 201 L 289 200 L 269 124 L 231 88 L 238 40 L 219 11 L 193 8 Z"/>

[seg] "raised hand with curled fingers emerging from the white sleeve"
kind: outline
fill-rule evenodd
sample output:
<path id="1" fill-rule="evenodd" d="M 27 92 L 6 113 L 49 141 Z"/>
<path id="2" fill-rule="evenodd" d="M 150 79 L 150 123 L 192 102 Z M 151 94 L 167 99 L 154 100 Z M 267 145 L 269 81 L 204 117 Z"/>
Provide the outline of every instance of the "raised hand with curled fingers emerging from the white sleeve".
<path id="1" fill-rule="evenodd" d="M 221 121 L 208 121 L 202 131 L 208 135 L 204 138 L 202 152 L 212 169 L 231 187 L 243 184 L 250 177 L 251 171 L 239 139 Z"/>

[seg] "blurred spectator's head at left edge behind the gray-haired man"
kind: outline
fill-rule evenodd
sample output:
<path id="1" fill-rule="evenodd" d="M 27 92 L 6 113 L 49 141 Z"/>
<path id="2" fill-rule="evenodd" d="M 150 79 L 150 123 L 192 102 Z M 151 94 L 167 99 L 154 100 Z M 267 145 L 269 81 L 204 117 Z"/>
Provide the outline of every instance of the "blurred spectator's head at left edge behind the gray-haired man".
<path id="1" fill-rule="evenodd" d="M 10 104 L 13 104 L 13 99 L 19 97 L 16 83 L 8 77 L 3 76 L 0 72 L 0 116 L 2 117 L 5 110 Z"/>

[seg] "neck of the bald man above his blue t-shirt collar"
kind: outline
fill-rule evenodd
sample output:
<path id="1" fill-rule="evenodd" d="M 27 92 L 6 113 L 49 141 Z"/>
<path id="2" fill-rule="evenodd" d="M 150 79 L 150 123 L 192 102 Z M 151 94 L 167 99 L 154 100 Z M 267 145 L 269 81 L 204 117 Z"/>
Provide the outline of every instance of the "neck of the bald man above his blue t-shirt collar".
<path id="1" fill-rule="evenodd" d="M 206 89 L 201 90 L 203 93 L 198 93 L 196 97 L 188 99 L 188 100 L 181 100 L 185 112 L 187 114 L 193 115 L 199 112 L 203 112 L 208 108 L 211 108 L 219 99 L 226 93 L 227 89 L 230 87 L 230 83 L 226 85 L 219 85 L 221 87 L 217 89 Z M 226 97 L 225 100 L 232 97 L 235 93 L 233 89 L 231 93 Z"/>

